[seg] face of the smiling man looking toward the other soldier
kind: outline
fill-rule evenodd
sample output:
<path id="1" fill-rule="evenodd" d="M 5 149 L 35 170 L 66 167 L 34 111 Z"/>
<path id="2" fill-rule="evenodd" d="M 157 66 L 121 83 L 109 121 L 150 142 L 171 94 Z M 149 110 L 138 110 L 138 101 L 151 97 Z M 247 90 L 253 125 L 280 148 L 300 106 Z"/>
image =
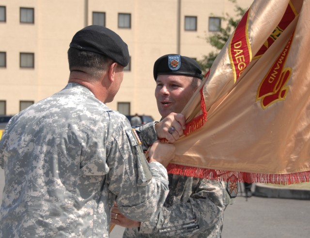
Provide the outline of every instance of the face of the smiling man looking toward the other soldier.
<path id="1" fill-rule="evenodd" d="M 155 98 L 160 115 L 165 118 L 171 112 L 180 113 L 195 89 L 192 77 L 185 75 L 158 75 Z"/>

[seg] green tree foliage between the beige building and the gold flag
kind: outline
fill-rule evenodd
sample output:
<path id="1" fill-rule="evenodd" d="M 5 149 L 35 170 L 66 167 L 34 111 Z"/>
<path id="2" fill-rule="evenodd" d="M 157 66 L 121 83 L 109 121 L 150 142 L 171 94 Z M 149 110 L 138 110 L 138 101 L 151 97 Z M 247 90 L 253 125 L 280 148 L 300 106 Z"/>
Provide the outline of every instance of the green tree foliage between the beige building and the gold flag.
<path id="1" fill-rule="evenodd" d="M 228 38 L 233 33 L 233 30 L 238 25 L 239 21 L 241 20 L 242 16 L 246 13 L 248 9 L 241 8 L 237 5 L 236 0 L 231 0 L 235 3 L 235 18 L 228 13 L 226 16 L 221 17 L 221 27 L 220 30 L 217 32 L 211 33 L 209 36 L 205 36 L 204 39 L 207 43 L 215 47 L 215 51 L 211 51 L 208 55 L 204 55 L 201 60 L 198 60 L 198 63 L 202 67 L 202 72 L 205 74 L 211 67 L 213 61 L 217 57 L 219 51 L 223 48 L 223 46 L 228 41 Z M 225 26 L 223 28 L 222 26 Z"/>

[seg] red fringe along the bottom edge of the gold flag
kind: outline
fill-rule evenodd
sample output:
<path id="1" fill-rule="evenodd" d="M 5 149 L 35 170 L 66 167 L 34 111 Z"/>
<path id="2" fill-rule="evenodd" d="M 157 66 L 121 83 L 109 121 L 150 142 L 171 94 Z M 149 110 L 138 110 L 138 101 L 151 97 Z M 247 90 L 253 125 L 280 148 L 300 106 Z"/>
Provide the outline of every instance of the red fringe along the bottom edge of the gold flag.
<path id="1" fill-rule="evenodd" d="M 219 181 L 230 181 L 232 178 L 237 178 L 238 182 L 258 182 L 283 185 L 310 181 L 310 171 L 302 171 L 291 174 L 256 174 L 238 171 L 198 168 L 180 164 L 168 164 L 167 171 L 169 174 L 177 174 L 195 178 L 206 178 Z"/>

